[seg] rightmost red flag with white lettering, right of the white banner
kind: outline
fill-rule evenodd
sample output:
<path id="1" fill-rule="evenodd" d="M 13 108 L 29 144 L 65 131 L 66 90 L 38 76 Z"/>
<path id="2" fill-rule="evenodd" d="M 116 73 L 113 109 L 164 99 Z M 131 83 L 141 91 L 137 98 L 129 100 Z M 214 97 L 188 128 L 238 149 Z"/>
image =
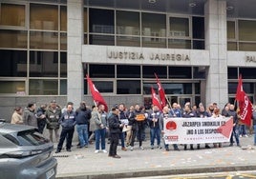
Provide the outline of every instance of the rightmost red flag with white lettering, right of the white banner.
<path id="1" fill-rule="evenodd" d="M 239 76 L 236 100 L 239 102 L 239 109 L 240 109 L 239 114 L 241 117 L 241 122 L 247 126 L 250 126 L 251 114 L 252 114 L 252 104 L 249 101 L 249 98 L 243 89 L 243 82 L 242 82 L 241 75 Z"/>

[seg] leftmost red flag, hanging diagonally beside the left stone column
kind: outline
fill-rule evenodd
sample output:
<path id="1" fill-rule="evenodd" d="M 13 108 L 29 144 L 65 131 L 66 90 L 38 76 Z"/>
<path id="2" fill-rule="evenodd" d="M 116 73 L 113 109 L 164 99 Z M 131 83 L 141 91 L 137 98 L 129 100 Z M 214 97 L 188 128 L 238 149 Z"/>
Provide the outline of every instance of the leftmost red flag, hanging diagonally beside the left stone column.
<path id="1" fill-rule="evenodd" d="M 105 111 L 108 111 L 107 103 L 105 102 L 104 98 L 101 96 L 99 91 L 96 89 L 95 84 L 92 82 L 92 80 L 90 79 L 90 77 L 88 75 L 86 75 L 86 79 L 87 79 L 87 82 L 89 84 L 89 88 L 91 90 L 93 99 L 95 100 L 97 105 L 104 105 L 105 106 Z"/>

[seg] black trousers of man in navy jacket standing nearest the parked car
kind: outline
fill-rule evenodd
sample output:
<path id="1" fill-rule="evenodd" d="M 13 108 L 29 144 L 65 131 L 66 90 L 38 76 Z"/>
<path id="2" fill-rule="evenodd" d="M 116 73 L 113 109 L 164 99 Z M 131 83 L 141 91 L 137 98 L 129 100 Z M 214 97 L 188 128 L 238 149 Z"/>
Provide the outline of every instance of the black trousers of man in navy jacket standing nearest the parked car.
<path id="1" fill-rule="evenodd" d="M 71 149 L 74 130 L 75 129 L 62 129 L 61 130 L 59 142 L 57 145 L 57 149 L 59 151 L 62 149 L 65 138 L 67 138 L 66 149 Z"/>

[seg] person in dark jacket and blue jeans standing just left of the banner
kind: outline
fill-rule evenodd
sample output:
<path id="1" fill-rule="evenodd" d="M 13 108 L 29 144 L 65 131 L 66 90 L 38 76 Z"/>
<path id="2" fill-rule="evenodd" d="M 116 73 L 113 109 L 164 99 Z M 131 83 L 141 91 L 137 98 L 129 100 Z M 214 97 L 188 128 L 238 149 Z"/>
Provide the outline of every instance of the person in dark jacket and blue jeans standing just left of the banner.
<path id="1" fill-rule="evenodd" d="M 154 149 L 155 138 L 157 138 L 158 148 L 160 147 L 160 109 L 158 106 L 153 106 L 152 113 L 150 113 L 148 121 L 150 127 L 150 145 Z"/>

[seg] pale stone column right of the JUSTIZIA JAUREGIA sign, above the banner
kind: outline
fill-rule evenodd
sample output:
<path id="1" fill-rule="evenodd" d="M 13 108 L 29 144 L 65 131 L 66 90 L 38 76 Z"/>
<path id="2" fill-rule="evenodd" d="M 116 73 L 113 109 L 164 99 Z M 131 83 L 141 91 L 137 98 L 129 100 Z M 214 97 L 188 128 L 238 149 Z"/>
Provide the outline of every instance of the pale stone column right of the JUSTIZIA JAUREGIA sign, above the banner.
<path id="1" fill-rule="evenodd" d="M 204 5 L 205 50 L 210 66 L 206 76 L 206 106 L 216 102 L 220 108 L 228 102 L 226 57 L 226 1 L 208 0 Z"/>

